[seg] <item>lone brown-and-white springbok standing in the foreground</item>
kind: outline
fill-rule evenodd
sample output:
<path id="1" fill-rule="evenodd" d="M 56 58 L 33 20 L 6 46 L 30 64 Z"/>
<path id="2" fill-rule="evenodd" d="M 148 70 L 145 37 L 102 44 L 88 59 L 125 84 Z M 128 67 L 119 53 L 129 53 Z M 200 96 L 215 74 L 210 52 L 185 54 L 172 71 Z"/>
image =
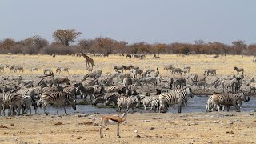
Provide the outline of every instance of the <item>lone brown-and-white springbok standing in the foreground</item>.
<path id="1" fill-rule="evenodd" d="M 121 117 L 116 116 L 116 115 L 104 115 L 104 116 L 102 116 L 102 118 L 101 118 L 101 128 L 99 130 L 100 138 L 104 138 L 102 129 L 107 124 L 118 125 L 117 136 L 118 136 L 118 138 L 121 138 L 120 135 L 119 135 L 119 125 L 122 122 L 125 122 L 126 117 L 127 117 L 127 111 L 126 111 L 126 113 L 123 113 Z"/>

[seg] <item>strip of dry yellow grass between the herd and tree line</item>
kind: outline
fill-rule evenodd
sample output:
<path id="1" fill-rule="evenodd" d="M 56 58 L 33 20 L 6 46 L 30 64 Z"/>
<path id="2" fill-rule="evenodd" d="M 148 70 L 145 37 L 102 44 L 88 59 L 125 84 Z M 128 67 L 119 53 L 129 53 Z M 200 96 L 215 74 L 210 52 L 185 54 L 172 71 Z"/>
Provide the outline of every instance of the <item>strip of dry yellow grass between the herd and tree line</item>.
<path id="1" fill-rule="evenodd" d="M 139 66 L 142 70 L 148 68 L 156 69 L 160 71 L 161 75 L 170 75 L 163 67 L 169 64 L 175 67 L 182 68 L 183 66 L 191 66 L 192 74 L 202 75 L 205 69 L 216 69 L 219 76 L 226 76 L 236 74 L 234 66 L 243 67 L 245 69 L 245 77 L 254 77 L 254 71 L 256 70 L 256 63 L 252 62 L 251 56 L 240 55 L 227 55 L 220 56 L 218 58 L 211 58 L 212 55 L 189 55 L 182 56 L 178 54 L 162 54 L 159 59 L 152 59 L 153 55 L 146 55 L 143 60 L 135 58 L 120 57 L 118 55 L 110 55 L 108 58 L 104 57 L 91 57 L 94 59 L 96 70 L 103 70 L 103 73 L 113 72 L 114 66 Z M 54 72 L 58 66 L 65 66 L 70 68 L 70 73 L 63 72 L 62 75 L 74 75 L 74 74 L 86 74 L 86 62 L 83 57 L 74 56 L 62 56 L 57 55 L 56 58 L 52 58 L 50 55 L 0 55 L 0 63 L 2 65 L 19 65 L 23 66 L 25 71 L 23 74 L 42 74 L 42 70 L 46 67 L 54 69 Z M 30 68 L 38 67 L 38 72 L 30 72 Z M 9 70 L 5 71 L 5 74 L 10 74 Z M 22 75 L 22 73 L 16 73 L 12 75 Z"/>

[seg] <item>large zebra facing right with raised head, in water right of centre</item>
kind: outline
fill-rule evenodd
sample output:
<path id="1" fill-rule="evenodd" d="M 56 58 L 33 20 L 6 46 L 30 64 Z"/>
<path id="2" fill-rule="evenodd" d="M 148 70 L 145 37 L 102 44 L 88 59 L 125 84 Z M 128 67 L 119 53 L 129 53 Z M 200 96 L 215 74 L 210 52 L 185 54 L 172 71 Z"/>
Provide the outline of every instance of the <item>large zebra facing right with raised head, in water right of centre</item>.
<path id="1" fill-rule="evenodd" d="M 194 94 L 190 87 L 186 87 L 182 90 L 170 90 L 170 93 L 163 93 L 159 95 L 159 113 L 161 109 L 165 109 L 166 105 L 173 106 L 178 104 L 178 113 L 182 112 L 182 106 L 188 100 L 188 98 L 194 97 Z"/>

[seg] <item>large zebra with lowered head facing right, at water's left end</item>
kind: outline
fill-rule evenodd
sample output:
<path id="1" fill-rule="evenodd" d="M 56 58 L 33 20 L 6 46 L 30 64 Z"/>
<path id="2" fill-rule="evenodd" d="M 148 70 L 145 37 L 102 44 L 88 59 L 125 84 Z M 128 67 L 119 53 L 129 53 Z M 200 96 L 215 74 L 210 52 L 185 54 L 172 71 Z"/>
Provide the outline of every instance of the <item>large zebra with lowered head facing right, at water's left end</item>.
<path id="1" fill-rule="evenodd" d="M 50 103 L 54 103 L 58 105 L 57 108 L 57 114 L 58 114 L 58 109 L 60 106 L 63 106 L 65 114 L 66 113 L 66 105 L 72 106 L 73 110 L 76 110 L 76 100 L 75 98 L 71 97 L 70 94 L 65 93 L 65 92 L 46 92 L 41 94 L 41 100 L 42 100 L 42 106 L 44 109 L 44 113 L 46 113 L 46 106 Z"/>

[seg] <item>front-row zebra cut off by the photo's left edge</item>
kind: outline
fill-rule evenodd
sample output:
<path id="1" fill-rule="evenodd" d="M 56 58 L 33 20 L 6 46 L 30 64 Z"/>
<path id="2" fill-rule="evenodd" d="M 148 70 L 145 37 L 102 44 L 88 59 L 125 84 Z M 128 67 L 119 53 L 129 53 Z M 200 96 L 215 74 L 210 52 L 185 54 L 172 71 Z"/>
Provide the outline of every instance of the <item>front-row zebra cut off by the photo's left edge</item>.
<path id="1" fill-rule="evenodd" d="M 5 107 L 10 106 L 10 115 L 14 115 L 13 108 L 18 106 L 17 114 L 20 114 L 22 109 L 22 94 L 18 93 L 3 93 L 0 96 L 0 101 L 2 102 L 2 114 L 5 115 Z"/>

